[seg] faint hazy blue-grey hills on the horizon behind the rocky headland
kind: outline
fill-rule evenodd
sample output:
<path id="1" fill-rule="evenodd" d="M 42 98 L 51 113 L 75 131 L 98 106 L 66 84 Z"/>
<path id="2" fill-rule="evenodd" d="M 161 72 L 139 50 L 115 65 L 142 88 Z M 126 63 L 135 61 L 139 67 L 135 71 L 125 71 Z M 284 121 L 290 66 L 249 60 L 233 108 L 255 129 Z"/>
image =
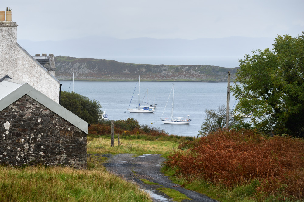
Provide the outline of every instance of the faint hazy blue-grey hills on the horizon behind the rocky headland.
<path id="1" fill-rule="evenodd" d="M 127 63 L 165 65 L 215 65 L 238 67 L 252 50 L 271 48 L 274 38 L 226 37 L 188 39 L 90 36 L 61 41 L 18 40 L 30 54 L 54 53 L 76 58 L 96 58 Z"/>

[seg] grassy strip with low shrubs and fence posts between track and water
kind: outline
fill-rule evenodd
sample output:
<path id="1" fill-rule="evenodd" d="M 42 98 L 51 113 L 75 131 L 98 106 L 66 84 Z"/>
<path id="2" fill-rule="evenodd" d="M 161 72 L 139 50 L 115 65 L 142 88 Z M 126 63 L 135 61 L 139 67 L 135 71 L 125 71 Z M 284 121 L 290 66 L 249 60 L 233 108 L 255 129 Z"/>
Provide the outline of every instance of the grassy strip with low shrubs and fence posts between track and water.
<path id="1" fill-rule="evenodd" d="M 135 153 L 168 155 L 178 145 L 193 137 L 168 135 L 163 130 L 138 125 L 133 118 L 114 122 L 114 147 L 111 147 L 111 121 L 91 125 L 88 131 L 88 153 Z M 118 133 L 120 145 L 118 145 Z"/>

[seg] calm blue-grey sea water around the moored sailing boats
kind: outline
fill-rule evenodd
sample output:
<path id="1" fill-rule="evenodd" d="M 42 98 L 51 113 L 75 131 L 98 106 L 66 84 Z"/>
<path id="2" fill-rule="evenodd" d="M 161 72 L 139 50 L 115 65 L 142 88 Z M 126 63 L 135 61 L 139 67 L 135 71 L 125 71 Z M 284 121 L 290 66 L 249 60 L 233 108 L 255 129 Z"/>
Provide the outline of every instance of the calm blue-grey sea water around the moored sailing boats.
<path id="1" fill-rule="evenodd" d="M 163 129 L 168 134 L 180 136 L 197 136 L 205 121 L 205 111 L 216 110 L 220 105 L 227 104 L 227 82 L 175 82 L 173 116 L 190 115 L 192 121 L 190 124 L 163 124 L 161 117 L 171 118 L 173 92 L 170 98 L 169 94 L 173 82 L 141 81 L 140 92 L 136 81 L 74 81 L 74 86 L 72 81 L 60 81 L 60 83 L 62 91 L 71 92 L 74 88 L 74 92 L 98 101 L 102 105 L 102 110 L 108 114 L 109 120 L 134 118 L 140 125 L 146 124 Z M 147 92 L 148 103 L 157 104 L 155 112 L 130 113 L 127 108 L 136 108 L 138 102 L 146 105 Z M 139 99 L 138 94 L 140 94 Z M 230 93 L 230 109 L 235 103 L 235 98 Z"/>

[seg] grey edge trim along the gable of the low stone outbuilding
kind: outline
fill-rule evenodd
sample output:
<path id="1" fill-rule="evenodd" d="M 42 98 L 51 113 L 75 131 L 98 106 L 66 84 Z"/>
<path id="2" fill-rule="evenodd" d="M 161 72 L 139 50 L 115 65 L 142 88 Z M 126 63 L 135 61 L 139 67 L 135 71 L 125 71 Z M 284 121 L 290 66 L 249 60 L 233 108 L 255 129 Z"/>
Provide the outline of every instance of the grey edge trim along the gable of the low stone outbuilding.
<path id="1" fill-rule="evenodd" d="M 73 114 L 71 111 L 67 110 L 57 102 L 48 98 L 46 95 L 36 90 L 28 83 L 20 85 L 19 88 L 2 98 L 0 100 L 0 111 L 8 107 L 10 104 L 12 104 L 25 94 L 29 95 L 31 98 L 38 101 L 43 106 L 47 107 L 54 113 L 58 114 L 60 117 L 64 118 L 66 121 L 70 122 L 74 126 L 78 127 L 80 130 L 88 134 L 88 123 L 86 121 L 82 120 L 80 117 Z"/>

